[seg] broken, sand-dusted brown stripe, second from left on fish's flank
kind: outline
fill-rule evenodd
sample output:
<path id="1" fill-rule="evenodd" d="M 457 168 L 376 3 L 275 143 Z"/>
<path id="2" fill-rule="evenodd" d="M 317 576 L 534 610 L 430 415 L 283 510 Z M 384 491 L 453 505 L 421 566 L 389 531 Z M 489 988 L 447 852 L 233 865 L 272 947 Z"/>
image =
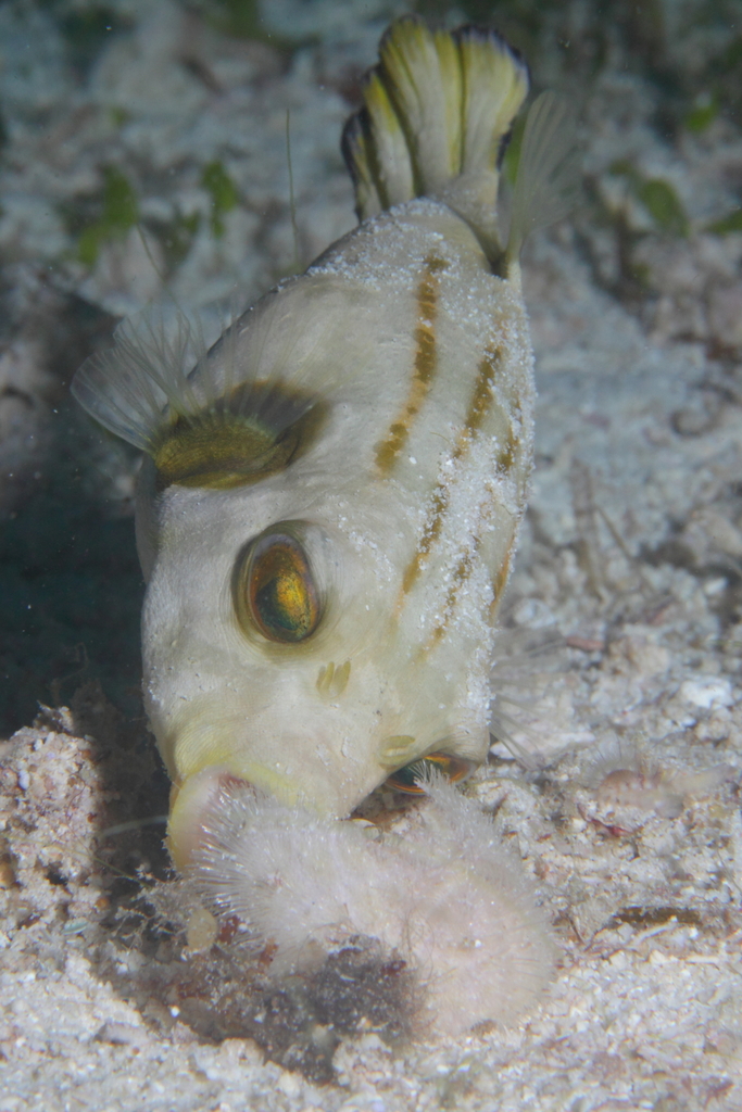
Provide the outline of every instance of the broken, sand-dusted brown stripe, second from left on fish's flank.
<path id="1" fill-rule="evenodd" d="M 489 413 L 489 406 L 493 398 L 492 390 L 495 376 L 499 369 L 501 358 L 502 351 L 498 348 L 496 351 L 487 353 L 479 363 L 476 380 L 474 383 L 474 389 L 466 410 L 466 417 L 464 418 L 464 424 L 462 425 L 451 457 L 452 463 L 454 464 L 458 463 L 458 460 L 466 455 L 472 440 L 476 437 L 476 434 L 482 428 L 485 417 Z M 498 466 L 508 470 L 513 464 L 514 451 L 515 440 L 511 428 L 507 444 L 497 457 Z M 415 584 L 423 569 L 425 560 L 431 554 L 431 548 L 441 535 L 444 517 L 446 515 L 446 510 L 448 509 L 449 498 L 451 480 L 447 483 L 445 480 L 438 480 L 438 484 L 433 492 L 431 514 L 428 515 L 428 518 L 423 527 L 423 535 L 419 539 L 419 544 L 417 545 L 415 555 L 405 568 L 402 577 L 402 590 L 405 595 Z"/>

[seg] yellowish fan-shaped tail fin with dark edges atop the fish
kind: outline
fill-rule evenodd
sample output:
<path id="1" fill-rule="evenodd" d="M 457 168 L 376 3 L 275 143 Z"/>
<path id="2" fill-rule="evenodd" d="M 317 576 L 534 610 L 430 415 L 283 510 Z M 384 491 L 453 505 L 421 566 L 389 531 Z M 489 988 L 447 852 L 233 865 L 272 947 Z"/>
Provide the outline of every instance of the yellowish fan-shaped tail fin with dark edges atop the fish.
<path id="1" fill-rule="evenodd" d="M 343 135 L 359 219 L 461 173 L 495 170 L 528 83 L 525 62 L 496 31 L 393 23 Z"/>

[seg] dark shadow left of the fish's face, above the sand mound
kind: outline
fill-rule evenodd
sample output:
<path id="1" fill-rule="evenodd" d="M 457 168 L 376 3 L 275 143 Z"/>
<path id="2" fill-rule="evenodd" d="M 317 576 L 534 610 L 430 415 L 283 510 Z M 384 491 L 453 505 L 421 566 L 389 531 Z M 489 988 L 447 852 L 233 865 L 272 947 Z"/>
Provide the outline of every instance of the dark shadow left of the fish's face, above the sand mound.
<path id="1" fill-rule="evenodd" d="M 90 678 L 127 714 L 140 702 L 144 584 L 130 518 L 111 519 L 59 474 L 0 535 L 0 732 Z"/>

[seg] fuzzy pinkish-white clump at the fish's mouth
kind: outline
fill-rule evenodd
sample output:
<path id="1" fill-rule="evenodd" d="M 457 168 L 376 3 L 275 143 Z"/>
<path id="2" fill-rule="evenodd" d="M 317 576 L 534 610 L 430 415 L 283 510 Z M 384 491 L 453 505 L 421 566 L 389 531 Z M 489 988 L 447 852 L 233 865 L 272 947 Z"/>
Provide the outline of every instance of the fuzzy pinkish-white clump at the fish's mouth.
<path id="1" fill-rule="evenodd" d="M 206 818 L 196 878 L 275 947 L 277 974 L 370 936 L 417 972 L 428 1030 L 511 1023 L 553 969 L 544 915 L 486 816 L 442 780 L 425 787 L 400 836 L 228 784 Z"/>

